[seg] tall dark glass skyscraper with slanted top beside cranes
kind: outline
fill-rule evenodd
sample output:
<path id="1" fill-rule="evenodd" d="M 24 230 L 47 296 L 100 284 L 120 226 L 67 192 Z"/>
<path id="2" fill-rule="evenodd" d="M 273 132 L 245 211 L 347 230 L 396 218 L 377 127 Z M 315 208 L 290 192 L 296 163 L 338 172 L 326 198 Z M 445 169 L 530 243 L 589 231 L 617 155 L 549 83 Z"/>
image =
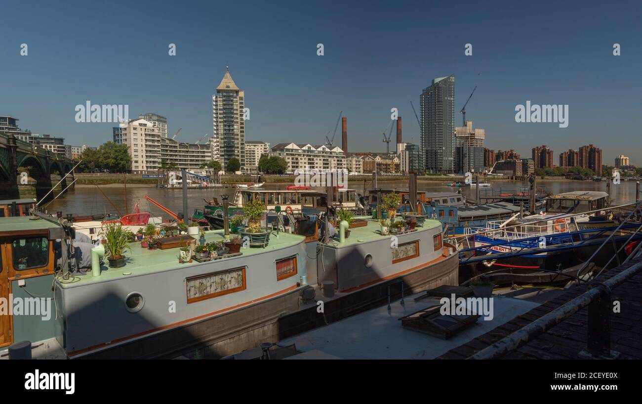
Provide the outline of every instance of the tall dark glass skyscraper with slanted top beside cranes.
<path id="1" fill-rule="evenodd" d="M 455 174 L 455 75 L 435 78 L 419 98 L 421 160 L 426 172 Z"/>

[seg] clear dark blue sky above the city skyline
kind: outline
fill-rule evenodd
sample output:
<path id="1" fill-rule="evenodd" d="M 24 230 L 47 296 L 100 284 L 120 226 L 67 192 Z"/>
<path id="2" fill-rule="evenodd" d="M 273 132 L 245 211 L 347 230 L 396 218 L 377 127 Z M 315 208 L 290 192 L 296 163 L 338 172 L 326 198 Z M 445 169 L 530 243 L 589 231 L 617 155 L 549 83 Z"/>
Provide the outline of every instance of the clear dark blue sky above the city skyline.
<path id="1" fill-rule="evenodd" d="M 323 143 L 343 111 L 350 151 L 383 151 L 390 108 L 403 116 L 404 140 L 419 143 L 410 100 L 417 107 L 433 78 L 455 73 L 457 111 L 478 86 L 467 118 L 491 149 L 530 157 L 546 144 L 557 162 L 594 143 L 609 165 L 620 153 L 642 164 L 642 6 L 594 3 L 10 1 L 0 115 L 100 145 L 114 125 L 76 123 L 74 107 L 128 104 L 130 117 L 167 116 L 170 134 L 182 127 L 177 139 L 194 142 L 212 133 L 211 96 L 229 64 L 251 111 L 247 140 Z M 517 124 L 526 100 L 568 104 L 568 127 Z"/>

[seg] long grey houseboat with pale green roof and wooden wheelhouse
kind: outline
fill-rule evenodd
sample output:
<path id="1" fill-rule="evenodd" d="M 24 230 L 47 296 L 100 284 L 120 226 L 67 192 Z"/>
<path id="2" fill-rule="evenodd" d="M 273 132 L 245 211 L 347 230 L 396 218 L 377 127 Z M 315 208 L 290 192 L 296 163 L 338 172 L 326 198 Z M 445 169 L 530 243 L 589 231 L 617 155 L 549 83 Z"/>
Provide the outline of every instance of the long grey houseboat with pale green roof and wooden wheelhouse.
<path id="1" fill-rule="evenodd" d="M 110 268 L 102 246 L 86 243 L 88 259 L 78 250 L 82 241 L 73 243 L 73 260 L 56 259 L 68 255 L 73 224 L 32 215 L 0 217 L 0 297 L 36 296 L 51 310 L 0 316 L 0 347 L 45 342 L 66 358 L 172 358 L 205 347 L 221 357 L 320 326 L 325 316 L 380 306 L 388 296 L 458 284 L 457 255 L 435 220 L 393 243 L 368 217 L 349 237 L 341 226 L 338 237 L 321 240 L 318 219 L 307 217 L 286 231 L 267 230 L 263 246 L 210 260 L 181 260 L 173 240 L 159 239 L 166 247 L 159 250 L 132 242 L 125 266 Z M 203 236 L 210 243 L 227 235 Z"/>

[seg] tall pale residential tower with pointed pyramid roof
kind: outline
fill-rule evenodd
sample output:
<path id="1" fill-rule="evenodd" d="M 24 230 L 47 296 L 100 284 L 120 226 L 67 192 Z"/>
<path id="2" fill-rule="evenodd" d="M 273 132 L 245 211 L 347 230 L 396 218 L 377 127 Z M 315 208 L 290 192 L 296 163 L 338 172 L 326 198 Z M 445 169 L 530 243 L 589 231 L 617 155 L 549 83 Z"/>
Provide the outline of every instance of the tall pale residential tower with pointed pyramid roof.
<path id="1" fill-rule="evenodd" d="M 218 161 L 226 171 L 227 162 L 233 157 L 241 161 L 241 170 L 245 167 L 243 109 L 245 92 L 236 86 L 227 67 L 221 84 L 216 87 L 216 94 L 212 96 L 214 156 L 218 156 Z"/>

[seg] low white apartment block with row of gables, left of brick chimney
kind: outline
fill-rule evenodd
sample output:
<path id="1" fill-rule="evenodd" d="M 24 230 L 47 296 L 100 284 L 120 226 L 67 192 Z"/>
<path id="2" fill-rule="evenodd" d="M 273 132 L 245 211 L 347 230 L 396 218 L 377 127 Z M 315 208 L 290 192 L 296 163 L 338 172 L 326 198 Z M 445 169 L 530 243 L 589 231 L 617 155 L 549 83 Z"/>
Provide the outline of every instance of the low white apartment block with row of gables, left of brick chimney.
<path id="1" fill-rule="evenodd" d="M 328 149 L 325 145 L 309 143 L 279 143 L 272 147 L 270 156 L 279 156 L 288 163 L 287 172 L 295 170 L 344 170 L 347 169 L 345 154 L 338 146 Z"/>

